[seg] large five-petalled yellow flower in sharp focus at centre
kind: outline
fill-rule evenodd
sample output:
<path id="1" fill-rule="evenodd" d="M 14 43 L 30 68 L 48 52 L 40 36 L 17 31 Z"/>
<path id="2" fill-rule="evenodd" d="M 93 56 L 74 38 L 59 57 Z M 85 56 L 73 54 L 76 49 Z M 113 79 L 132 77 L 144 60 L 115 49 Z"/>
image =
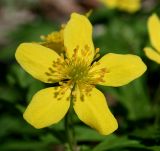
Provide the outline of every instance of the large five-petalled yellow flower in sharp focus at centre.
<path id="1" fill-rule="evenodd" d="M 47 127 L 60 121 L 73 104 L 85 124 L 101 134 L 112 133 L 118 127 L 117 121 L 95 85 L 125 85 L 145 72 L 145 64 L 138 56 L 112 53 L 95 62 L 98 49 L 92 42 L 92 25 L 76 13 L 65 26 L 64 46 L 67 57 L 33 43 L 22 43 L 17 48 L 18 63 L 33 77 L 45 83 L 60 81 L 60 86 L 33 96 L 24 118 L 35 128 Z"/>

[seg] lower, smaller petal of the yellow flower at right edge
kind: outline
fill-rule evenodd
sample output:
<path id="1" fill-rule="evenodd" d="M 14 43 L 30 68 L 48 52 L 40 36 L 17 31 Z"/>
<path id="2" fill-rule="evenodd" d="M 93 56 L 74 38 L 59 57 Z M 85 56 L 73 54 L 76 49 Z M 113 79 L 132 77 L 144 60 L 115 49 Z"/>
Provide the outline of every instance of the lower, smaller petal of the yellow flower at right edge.
<path id="1" fill-rule="evenodd" d="M 160 64 L 160 53 L 149 47 L 144 48 L 144 52 L 149 59 Z"/>

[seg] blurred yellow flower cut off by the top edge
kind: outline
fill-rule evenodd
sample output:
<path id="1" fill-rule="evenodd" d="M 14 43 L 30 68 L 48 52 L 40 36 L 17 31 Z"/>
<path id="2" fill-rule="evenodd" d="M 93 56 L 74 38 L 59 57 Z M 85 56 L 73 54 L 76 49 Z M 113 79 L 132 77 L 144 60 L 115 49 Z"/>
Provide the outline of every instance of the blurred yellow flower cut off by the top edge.
<path id="1" fill-rule="evenodd" d="M 107 7 L 134 13 L 141 7 L 141 0 L 100 0 Z"/>

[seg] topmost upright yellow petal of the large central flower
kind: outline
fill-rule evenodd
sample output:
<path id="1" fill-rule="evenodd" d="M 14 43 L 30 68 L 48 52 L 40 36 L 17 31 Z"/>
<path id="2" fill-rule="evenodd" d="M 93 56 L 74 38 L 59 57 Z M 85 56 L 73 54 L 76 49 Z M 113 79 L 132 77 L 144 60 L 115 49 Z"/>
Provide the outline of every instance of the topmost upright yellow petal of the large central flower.
<path id="1" fill-rule="evenodd" d="M 74 49 L 78 47 L 78 56 L 84 58 L 82 50 L 86 50 L 88 53 L 87 62 L 92 62 L 94 56 L 92 25 L 86 16 L 76 13 L 71 15 L 71 19 L 64 29 L 64 46 L 69 58 L 74 54 Z"/>

